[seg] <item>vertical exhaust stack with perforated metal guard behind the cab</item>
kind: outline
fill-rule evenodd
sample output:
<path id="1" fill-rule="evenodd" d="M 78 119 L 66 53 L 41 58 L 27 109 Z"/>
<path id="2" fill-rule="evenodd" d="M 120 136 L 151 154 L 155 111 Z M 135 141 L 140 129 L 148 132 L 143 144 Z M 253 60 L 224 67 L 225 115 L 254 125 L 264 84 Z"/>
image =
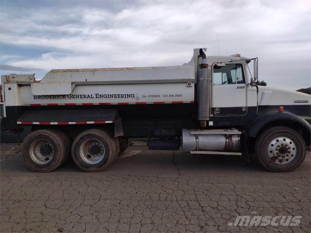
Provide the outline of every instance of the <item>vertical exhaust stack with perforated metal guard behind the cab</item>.
<path id="1" fill-rule="evenodd" d="M 207 55 L 200 49 L 202 64 L 197 71 L 197 120 L 201 126 L 206 126 L 206 121 L 211 115 L 211 68 L 207 64 Z"/>

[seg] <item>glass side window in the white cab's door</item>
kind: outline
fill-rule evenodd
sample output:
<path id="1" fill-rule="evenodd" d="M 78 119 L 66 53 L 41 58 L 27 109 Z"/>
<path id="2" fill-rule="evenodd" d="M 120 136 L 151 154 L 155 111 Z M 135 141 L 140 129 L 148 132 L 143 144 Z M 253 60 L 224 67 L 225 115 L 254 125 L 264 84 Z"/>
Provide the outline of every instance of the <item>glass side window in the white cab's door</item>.
<path id="1" fill-rule="evenodd" d="M 225 66 L 214 65 L 213 82 L 219 84 L 245 83 L 242 64 L 225 64 Z"/>

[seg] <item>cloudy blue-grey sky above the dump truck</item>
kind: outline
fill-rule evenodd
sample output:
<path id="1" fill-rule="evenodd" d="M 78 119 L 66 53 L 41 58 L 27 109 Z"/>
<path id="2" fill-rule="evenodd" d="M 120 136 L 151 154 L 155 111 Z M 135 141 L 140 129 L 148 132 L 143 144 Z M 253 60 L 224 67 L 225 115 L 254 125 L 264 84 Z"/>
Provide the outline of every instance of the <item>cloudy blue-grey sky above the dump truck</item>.
<path id="1" fill-rule="evenodd" d="M 268 85 L 311 86 L 311 1 L 1 1 L 0 20 L 2 75 L 182 65 L 207 47 L 258 57 Z"/>

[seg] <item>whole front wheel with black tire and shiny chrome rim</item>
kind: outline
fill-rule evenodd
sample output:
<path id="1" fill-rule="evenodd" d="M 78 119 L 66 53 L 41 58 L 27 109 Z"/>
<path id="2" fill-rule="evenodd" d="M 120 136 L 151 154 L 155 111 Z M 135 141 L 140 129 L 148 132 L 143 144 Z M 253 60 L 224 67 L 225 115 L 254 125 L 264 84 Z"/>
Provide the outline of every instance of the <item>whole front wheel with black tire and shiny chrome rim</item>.
<path id="1" fill-rule="evenodd" d="M 289 172 L 306 157 L 302 136 L 287 127 L 272 127 L 262 132 L 255 142 L 255 154 L 262 166 L 274 172 Z"/>

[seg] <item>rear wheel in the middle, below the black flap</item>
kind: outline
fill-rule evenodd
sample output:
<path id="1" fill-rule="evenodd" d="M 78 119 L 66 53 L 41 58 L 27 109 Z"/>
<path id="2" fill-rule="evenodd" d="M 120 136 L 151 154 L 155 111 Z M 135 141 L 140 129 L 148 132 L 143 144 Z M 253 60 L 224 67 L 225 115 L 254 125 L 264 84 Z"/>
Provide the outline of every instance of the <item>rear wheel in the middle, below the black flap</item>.
<path id="1" fill-rule="evenodd" d="M 79 134 L 72 143 L 73 161 L 83 171 L 99 172 L 107 168 L 116 156 L 115 141 L 104 130 L 91 129 Z"/>

